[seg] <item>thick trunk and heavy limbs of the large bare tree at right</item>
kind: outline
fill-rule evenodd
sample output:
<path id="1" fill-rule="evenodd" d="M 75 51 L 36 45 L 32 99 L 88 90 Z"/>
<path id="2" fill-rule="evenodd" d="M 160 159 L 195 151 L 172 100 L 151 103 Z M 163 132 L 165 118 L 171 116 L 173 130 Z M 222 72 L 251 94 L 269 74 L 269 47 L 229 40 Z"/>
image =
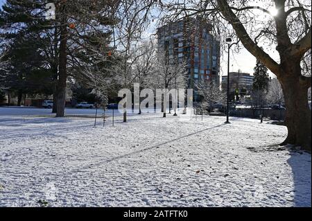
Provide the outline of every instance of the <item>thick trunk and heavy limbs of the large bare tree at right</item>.
<path id="1" fill-rule="evenodd" d="M 303 77 L 300 67 L 300 60 L 307 51 L 311 50 L 311 26 L 305 35 L 295 37 L 298 39 L 301 37 L 301 39 L 292 44 L 291 37 L 288 35 L 287 18 L 291 10 L 297 8 L 291 8 L 285 12 L 285 1 L 275 1 L 276 7 L 279 8 L 279 15 L 275 17 L 275 36 L 280 57 L 280 64 L 278 64 L 248 35 L 243 23 L 229 6 L 229 1 L 217 0 L 217 2 L 220 11 L 232 24 L 243 46 L 275 73 L 281 82 L 286 102 L 288 128 L 288 136 L 283 144 L 300 145 L 305 150 L 311 151 L 311 110 L 308 107 L 307 95 L 308 88 L 311 87 L 311 78 Z"/>

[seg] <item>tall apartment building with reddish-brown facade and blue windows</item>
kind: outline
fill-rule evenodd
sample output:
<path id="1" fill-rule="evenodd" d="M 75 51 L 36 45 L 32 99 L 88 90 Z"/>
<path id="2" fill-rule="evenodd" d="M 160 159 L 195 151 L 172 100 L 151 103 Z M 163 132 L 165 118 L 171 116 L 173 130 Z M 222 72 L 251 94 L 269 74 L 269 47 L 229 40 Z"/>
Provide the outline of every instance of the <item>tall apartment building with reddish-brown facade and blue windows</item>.
<path id="1" fill-rule="evenodd" d="M 198 18 L 184 18 L 157 30 L 158 48 L 166 51 L 169 60 L 186 62 L 188 87 L 194 89 L 201 80 L 220 85 L 220 42 L 211 34 L 212 26 Z"/>

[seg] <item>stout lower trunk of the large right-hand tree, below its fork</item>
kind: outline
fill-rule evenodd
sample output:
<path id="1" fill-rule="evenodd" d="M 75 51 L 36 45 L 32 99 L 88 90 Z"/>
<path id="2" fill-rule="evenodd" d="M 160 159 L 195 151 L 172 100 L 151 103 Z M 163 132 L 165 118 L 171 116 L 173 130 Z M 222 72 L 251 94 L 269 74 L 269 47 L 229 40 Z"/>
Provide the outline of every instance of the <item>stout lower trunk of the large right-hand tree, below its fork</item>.
<path id="1" fill-rule="evenodd" d="M 295 67 L 295 68 L 294 68 Z M 308 103 L 309 84 L 302 82 L 300 65 L 288 67 L 297 73 L 282 73 L 279 79 L 284 91 L 286 103 L 285 123 L 288 136 L 282 145 L 300 145 L 304 150 L 311 151 L 311 110 Z M 311 79 L 310 79 L 311 80 Z"/>

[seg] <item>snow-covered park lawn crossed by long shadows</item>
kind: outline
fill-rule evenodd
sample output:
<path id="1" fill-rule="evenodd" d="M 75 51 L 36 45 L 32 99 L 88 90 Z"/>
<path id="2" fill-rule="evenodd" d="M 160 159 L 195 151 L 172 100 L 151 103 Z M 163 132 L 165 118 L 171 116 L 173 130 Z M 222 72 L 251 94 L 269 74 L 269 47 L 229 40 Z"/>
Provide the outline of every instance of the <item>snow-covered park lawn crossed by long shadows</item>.
<path id="1" fill-rule="evenodd" d="M 26 115 L 0 113 L 0 206 L 311 206 L 311 154 L 269 147 L 286 127 Z"/>

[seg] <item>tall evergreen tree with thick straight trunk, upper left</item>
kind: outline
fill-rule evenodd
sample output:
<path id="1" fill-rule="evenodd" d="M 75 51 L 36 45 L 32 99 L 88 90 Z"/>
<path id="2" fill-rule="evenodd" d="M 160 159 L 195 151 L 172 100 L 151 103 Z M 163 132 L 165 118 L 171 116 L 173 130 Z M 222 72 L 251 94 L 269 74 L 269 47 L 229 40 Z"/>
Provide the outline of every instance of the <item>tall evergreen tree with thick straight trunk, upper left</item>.
<path id="1" fill-rule="evenodd" d="M 53 75 L 57 116 L 64 116 L 67 80 L 79 73 L 76 67 L 88 66 L 78 55 L 107 56 L 107 38 L 116 21 L 117 1 L 53 1 L 55 19 L 46 19 L 46 1 L 8 0 L 0 11 L 0 37 L 10 44 L 23 35 L 43 44 L 37 53 L 45 57 Z M 91 40 L 93 39 L 93 40 Z M 96 41 L 96 47 L 95 42 Z M 90 43 L 92 42 L 92 44 Z M 92 51 L 92 54 L 88 51 Z M 86 61 L 92 61 L 92 58 Z M 73 71 L 73 72 L 70 72 Z"/>

